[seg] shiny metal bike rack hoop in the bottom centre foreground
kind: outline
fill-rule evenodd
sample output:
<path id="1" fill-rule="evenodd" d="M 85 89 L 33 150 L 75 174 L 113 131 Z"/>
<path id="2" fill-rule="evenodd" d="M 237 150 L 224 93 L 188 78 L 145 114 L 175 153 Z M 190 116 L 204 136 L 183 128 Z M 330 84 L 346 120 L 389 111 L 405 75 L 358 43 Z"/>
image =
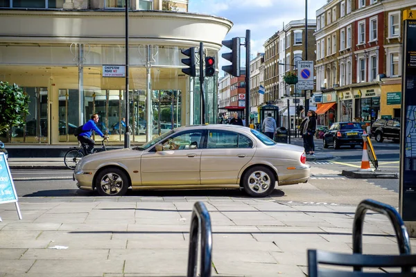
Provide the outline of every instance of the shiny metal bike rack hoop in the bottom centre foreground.
<path id="1" fill-rule="evenodd" d="M 193 205 L 189 232 L 188 277 L 196 277 L 198 268 L 198 232 L 201 233 L 200 277 L 211 276 L 212 233 L 211 218 L 202 202 Z"/>

